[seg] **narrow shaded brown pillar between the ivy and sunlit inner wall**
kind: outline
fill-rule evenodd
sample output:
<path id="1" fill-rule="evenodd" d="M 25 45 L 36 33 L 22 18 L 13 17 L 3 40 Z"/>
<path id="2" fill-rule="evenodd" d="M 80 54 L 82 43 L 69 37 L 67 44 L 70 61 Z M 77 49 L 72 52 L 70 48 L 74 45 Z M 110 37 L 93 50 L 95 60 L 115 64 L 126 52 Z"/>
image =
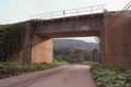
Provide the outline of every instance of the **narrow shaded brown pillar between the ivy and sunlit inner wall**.
<path id="1" fill-rule="evenodd" d="M 27 22 L 25 25 L 24 45 L 20 53 L 20 62 L 24 62 L 24 63 L 31 62 L 33 35 L 34 35 L 34 29 L 32 28 L 31 22 Z"/>

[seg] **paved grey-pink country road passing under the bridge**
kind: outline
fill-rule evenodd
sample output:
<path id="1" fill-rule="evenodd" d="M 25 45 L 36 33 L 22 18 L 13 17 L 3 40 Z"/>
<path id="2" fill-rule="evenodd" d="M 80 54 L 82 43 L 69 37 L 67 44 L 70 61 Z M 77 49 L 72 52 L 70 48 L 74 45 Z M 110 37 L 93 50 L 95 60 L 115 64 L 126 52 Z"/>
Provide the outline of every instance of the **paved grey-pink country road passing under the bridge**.
<path id="1" fill-rule="evenodd" d="M 87 65 L 64 65 L 0 79 L 0 87 L 96 87 Z"/>

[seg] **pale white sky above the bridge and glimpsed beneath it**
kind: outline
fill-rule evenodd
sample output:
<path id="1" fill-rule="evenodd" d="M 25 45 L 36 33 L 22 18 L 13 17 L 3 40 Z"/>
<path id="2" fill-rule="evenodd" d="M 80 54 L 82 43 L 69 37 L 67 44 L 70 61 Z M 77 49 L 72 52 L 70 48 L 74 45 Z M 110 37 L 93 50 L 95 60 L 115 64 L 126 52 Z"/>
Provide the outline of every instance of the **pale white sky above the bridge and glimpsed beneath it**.
<path id="1" fill-rule="evenodd" d="M 121 10 L 128 2 L 130 0 L 0 0 L 0 24 L 31 20 L 29 15 L 34 14 L 97 4 L 106 4 L 107 11 Z M 81 39 L 95 41 L 93 37 Z"/>

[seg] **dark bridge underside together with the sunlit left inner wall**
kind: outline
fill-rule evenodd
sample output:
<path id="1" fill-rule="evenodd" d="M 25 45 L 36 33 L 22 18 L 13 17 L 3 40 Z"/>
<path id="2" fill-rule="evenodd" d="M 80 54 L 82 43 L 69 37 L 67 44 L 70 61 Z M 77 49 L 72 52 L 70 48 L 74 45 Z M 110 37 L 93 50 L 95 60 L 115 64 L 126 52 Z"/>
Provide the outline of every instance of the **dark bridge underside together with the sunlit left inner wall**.
<path id="1" fill-rule="evenodd" d="M 58 33 L 47 35 L 35 35 L 34 46 L 32 49 L 33 63 L 39 62 L 52 62 L 52 38 L 62 37 L 87 37 L 87 36 L 99 36 L 98 32 L 72 32 L 72 33 Z"/>

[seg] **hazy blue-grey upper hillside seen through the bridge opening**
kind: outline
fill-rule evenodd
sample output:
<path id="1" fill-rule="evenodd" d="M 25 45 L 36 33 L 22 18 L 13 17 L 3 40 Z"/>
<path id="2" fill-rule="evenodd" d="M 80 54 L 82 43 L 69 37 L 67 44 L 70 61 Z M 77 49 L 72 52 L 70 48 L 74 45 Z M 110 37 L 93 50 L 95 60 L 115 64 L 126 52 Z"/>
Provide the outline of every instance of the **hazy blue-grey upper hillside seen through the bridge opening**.
<path id="1" fill-rule="evenodd" d="M 53 47 L 68 47 L 71 49 L 84 49 L 84 50 L 93 50 L 95 48 L 98 48 L 98 44 L 96 42 L 86 42 L 82 40 L 75 40 L 75 39 L 53 39 Z"/>

